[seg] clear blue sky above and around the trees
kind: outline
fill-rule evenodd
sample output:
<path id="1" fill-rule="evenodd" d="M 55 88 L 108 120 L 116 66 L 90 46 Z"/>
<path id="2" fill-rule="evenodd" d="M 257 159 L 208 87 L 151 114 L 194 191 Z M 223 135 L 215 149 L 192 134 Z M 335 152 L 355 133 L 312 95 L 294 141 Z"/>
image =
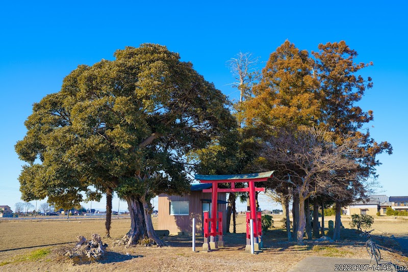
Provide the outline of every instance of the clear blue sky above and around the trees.
<path id="1" fill-rule="evenodd" d="M 239 51 L 266 62 L 286 39 L 307 50 L 345 40 L 359 52 L 359 62 L 374 62 L 362 72 L 373 78 L 374 88 L 359 105 L 374 111 L 368 125 L 374 139 L 389 141 L 394 148 L 393 155 L 378 157 L 383 163 L 377 171 L 382 189 L 388 196 L 408 195 L 408 7 L 403 1 L 14 3 L 0 6 L 0 205 L 13 209 L 20 201 L 17 177 L 23 162 L 14 145 L 25 135 L 23 122 L 32 104 L 58 92 L 64 76 L 79 64 L 112 60 L 116 49 L 145 42 L 179 52 L 183 61 L 191 61 L 229 95 L 235 89 L 227 85 L 233 77 L 225 62 Z M 92 207 L 104 205 L 102 201 Z"/>

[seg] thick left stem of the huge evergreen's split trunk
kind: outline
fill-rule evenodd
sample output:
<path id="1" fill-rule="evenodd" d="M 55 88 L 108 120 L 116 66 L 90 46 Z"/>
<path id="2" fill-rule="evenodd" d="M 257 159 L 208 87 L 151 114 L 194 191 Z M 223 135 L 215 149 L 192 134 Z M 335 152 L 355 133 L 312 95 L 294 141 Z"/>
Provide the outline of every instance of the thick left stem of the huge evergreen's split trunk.
<path id="1" fill-rule="evenodd" d="M 147 237 L 147 230 L 142 203 L 134 197 L 127 197 L 126 202 L 131 216 L 131 229 L 122 240 L 128 239 L 126 243 L 130 246 L 137 244 L 139 239 Z"/>

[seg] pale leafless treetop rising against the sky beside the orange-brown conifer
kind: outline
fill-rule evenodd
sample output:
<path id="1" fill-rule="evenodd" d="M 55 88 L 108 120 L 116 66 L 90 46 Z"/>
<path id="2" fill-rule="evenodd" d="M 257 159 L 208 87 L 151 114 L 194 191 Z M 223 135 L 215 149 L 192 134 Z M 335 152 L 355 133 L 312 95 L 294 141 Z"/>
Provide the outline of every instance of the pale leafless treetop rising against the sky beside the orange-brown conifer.
<path id="1" fill-rule="evenodd" d="M 236 79 L 232 85 L 240 91 L 240 102 L 243 101 L 247 91 L 249 91 L 249 84 L 260 76 L 256 69 L 258 61 L 259 57 L 254 57 L 249 52 L 239 52 L 235 58 L 227 61 L 227 66 Z"/>

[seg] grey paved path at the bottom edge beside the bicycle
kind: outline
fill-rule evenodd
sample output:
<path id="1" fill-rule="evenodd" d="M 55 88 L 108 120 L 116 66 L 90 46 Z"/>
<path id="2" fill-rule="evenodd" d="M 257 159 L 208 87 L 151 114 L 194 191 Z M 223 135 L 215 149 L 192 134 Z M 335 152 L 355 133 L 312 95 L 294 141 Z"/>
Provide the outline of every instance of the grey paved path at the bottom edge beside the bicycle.
<path id="1" fill-rule="evenodd" d="M 386 263 L 381 261 L 379 263 Z M 347 266 L 355 264 L 356 266 Z M 342 266 L 346 265 L 346 266 Z M 365 266 L 362 266 L 365 265 Z M 374 265 L 374 266 L 373 266 Z M 369 259 L 346 259 L 334 257 L 306 257 L 298 262 L 289 272 L 331 272 L 331 271 L 395 271 L 394 265 L 386 266 L 383 270 L 376 268 L 375 260 Z M 360 269 L 359 269 L 360 268 Z M 374 268 L 374 269 L 373 269 Z M 386 269 L 387 268 L 387 269 Z M 390 268 L 390 269 L 388 269 Z M 391 270 L 392 269 L 392 270 Z"/>

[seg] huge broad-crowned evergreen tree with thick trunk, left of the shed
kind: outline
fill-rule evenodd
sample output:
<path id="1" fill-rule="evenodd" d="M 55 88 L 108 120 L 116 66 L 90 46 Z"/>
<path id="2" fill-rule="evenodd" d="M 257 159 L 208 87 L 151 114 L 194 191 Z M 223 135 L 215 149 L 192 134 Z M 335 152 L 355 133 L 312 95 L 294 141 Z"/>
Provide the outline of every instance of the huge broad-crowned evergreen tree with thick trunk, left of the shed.
<path id="1" fill-rule="evenodd" d="M 80 65 L 60 92 L 34 104 L 16 145 L 29 162 L 19 177 L 22 197 L 77 204 L 90 185 L 113 188 L 130 210 L 127 243 L 149 237 L 163 245 L 150 199 L 188 189 L 184 155 L 236 121 L 226 97 L 166 47 L 126 47 L 115 57 Z"/>

